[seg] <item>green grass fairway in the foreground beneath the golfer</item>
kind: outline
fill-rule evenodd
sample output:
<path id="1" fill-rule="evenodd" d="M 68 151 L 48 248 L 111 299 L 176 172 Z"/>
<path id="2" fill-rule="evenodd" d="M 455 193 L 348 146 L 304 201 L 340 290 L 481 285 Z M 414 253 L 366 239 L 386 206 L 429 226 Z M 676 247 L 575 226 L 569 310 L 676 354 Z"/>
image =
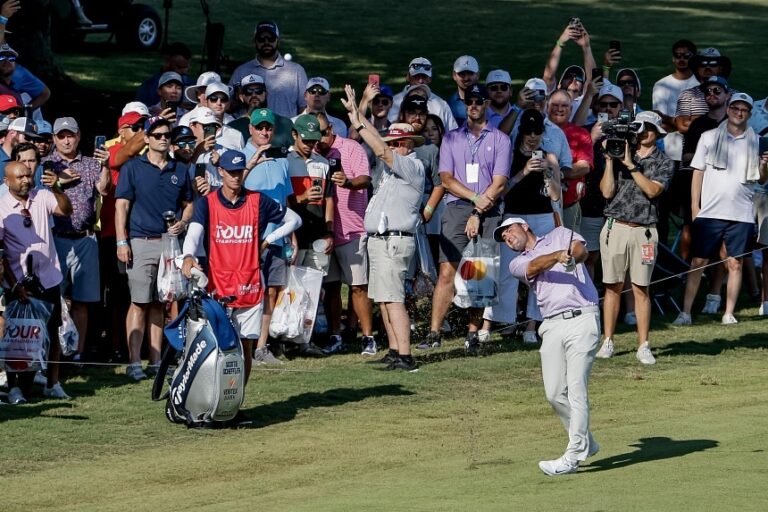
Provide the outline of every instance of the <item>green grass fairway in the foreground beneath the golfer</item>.
<path id="1" fill-rule="evenodd" d="M 754 312 L 728 328 L 654 325 L 654 367 L 620 335 L 592 374 L 602 450 L 559 478 L 536 463 L 566 434 L 519 343 L 467 358 L 453 341 L 416 374 L 359 355 L 257 369 L 255 424 L 236 431 L 172 425 L 148 382 L 88 370 L 72 402 L 0 409 L 4 509 L 764 511 L 768 341 Z"/>

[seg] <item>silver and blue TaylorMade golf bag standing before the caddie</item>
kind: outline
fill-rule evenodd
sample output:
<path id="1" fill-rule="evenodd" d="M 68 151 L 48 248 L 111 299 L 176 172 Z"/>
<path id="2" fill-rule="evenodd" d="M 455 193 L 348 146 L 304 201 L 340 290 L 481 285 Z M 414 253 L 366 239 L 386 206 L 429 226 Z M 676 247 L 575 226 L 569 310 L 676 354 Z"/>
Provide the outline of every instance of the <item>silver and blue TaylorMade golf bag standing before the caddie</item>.
<path id="1" fill-rule="evenodd" d="M 165 328 L 168 338 L 152 386 L 152 400 L 166 399 L 165 415 L 188 428 L 226 426 L 240 411 L 245 392 L 245 360 L 240 339 L 222 305 L 208 296 L 202 276 L 189 300 Z M 201 286 L 202 284 L 202 286 Z M 168 368 L 176 368 L 161 396 Z"/>

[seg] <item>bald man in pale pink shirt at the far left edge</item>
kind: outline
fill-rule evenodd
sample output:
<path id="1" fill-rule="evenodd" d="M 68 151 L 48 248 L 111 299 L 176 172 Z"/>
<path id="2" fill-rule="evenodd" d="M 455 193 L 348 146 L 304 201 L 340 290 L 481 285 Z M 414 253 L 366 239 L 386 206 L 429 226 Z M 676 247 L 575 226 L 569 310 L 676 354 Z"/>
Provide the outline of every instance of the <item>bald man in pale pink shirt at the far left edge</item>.
<path id="1" fill-rule="evenodd" d="M 21 284 L 24 274 L 31 270 L 40 281 L 42 293 L 35 298 L 53 304 L 53 313 L 48 320 L 48 383 L 43 390 L 45 396 L 68 399 L 69 396 L 59 384 L 59 334 L 61 325 L 61 292 L 59 283 L 62 275 L 59 258 L 53 244 L 50 215 L 72 214 L 69 198 L 58 186 L 58 179 L 52 171 L 45 171 L 43 185 L 48 189 L 35 189 L 32 170 L 19 162 L 5 166 L 5 184 L 8 193 L 0 197 L 0 241 L 5 249 L 3 259 L 4 285 L 12 299 L 27 300 L 32 290 Z M 27 269 L 27 258 L 31 257 L 32 268 Z M 29 393 L 35 373 L 13 372 L 8 374 L 8 400 L 12 404 L 26 402 L 24 393 Z"/>

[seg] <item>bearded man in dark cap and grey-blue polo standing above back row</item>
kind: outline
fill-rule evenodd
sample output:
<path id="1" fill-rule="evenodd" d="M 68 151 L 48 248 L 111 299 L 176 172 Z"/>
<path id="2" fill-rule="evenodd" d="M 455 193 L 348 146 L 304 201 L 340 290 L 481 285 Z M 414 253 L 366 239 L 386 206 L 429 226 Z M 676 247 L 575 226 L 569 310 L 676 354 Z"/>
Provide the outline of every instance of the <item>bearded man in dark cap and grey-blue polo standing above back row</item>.
<path id="1" fill-rule="evenodd" d="M 285 117 L 293 117 L 306 107 L 304 85 L 307 73 L 293 61 L 286 60 L 278 51 L 280 30 L 272 21 L 256 24 L 253 36 L 256 58 L 240 65 L 229 80 L 230 85 L 240 83 L 245 75 L 260 75 L 270 94 L 269 108 Z"/>

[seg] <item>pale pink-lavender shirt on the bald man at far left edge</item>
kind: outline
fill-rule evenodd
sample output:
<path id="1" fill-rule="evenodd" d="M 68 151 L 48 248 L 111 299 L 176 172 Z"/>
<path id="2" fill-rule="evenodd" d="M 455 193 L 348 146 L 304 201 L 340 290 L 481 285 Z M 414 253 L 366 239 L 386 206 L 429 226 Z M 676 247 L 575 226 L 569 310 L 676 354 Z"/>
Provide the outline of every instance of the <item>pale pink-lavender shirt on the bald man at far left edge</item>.
<path id="1" fill-rule="evenodd" d="M 53 192 L 45 189 L 30 190 L 26 205 L 10 192 L 0 197 L 0 239 L 17 281 L 24 277 L 27 254 L 32 254 L 33 270 L 43 287 L 52 288 L 61 283 L 61 267 L 49 223 L 56 206 Z M 29 227 L 24 226 L 21 214 L 24 208 L 29 210 L 32 219 Z"/>

